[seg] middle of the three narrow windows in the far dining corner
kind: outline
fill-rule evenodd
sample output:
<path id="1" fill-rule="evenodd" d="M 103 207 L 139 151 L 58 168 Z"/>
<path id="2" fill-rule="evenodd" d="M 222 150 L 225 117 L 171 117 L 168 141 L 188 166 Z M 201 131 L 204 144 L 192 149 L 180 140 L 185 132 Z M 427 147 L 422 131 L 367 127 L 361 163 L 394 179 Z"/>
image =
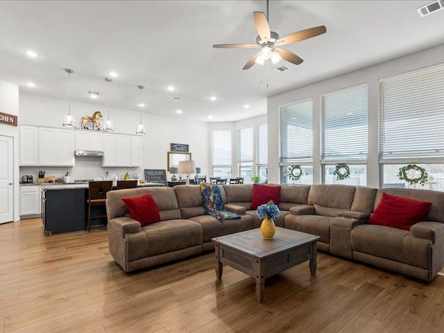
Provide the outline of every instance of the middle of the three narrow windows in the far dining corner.
<path id="1" fill-rule="evenodd" d="M 239 175 L 245 183 L 253 176 L 253 127 L 240 128 L 239 137 Z"/>

